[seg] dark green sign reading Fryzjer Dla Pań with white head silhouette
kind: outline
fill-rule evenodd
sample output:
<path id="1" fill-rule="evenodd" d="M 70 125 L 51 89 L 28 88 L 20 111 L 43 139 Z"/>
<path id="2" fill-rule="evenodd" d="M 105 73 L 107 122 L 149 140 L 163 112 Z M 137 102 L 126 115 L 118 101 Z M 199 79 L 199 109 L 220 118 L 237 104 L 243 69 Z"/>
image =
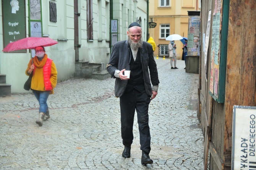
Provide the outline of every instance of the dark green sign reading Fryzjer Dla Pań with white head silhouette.
<path id="1" fill-rule="evenodd" d="M 26 38 L 25 0 L 3 0 L 3 47 L 10 42 Z M 13 52 L 26 52 L 17 50 Z"/>

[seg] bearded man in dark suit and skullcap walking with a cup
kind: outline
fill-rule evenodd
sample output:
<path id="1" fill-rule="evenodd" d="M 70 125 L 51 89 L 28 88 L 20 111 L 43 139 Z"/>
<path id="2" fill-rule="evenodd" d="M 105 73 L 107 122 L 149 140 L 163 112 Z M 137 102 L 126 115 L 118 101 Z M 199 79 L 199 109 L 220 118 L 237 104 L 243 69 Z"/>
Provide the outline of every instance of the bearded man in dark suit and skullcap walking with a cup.
<path id="1" fill-rule="evenodd" d="M 107 71 L 115 78 L 115 96 L 120 97 L 121 134 L 124 150 L 122 156 L 130 158 L 133 142 L 133 120 L 137 112 L 141 144 L 141 164 L 152 164 L 149 157 L 149 103 L 157 95 L 158 73 L 152 45 L 142 41 L 141 26 L 131 23 L 127 31 L 128 40 L 113 45 Z M 123 74 L 130 70 L 130 78 Z M 149 74 L 150 73 L 150 74 Z M 151 86 L 152 84 L 152 86 Z"/>

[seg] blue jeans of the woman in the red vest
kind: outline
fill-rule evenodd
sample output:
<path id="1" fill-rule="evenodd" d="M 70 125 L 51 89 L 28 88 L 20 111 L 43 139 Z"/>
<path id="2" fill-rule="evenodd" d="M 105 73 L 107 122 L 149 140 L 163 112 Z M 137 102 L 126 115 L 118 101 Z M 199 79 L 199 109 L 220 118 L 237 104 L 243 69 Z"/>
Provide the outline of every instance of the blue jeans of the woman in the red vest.
<path id="1" fill-rule="evenodd" d="M 47 99 L 49 97 L 51 91 L 37 91 L 37 90 L 33 90 L 34 95 L 36 96 L 36 99 L 39 102 L 39 113 L 43 112 L 46 113 L 46 110 L 48 108 L 47 105 Z"/>

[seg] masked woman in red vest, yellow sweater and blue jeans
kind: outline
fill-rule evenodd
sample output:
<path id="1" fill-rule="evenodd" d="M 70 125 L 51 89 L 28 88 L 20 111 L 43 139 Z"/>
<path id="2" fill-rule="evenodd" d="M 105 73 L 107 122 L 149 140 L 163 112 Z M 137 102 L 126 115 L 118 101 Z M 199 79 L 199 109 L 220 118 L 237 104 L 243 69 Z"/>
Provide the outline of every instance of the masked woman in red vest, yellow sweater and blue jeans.
<path id="1" fill-rule="evenodd" d="M 53 94 L 53 89 L 57 84 L 57 70 L 53 61 L 45 54 L 43 46 L 35 48 L 36 56 L 28 63 L 26 75 L 33 74 L 31 90 L 39 102 L 39 118 L 36 124 L 43 125 L 43 121 L 50 118 L 47 99 L 49 94 Z"/>

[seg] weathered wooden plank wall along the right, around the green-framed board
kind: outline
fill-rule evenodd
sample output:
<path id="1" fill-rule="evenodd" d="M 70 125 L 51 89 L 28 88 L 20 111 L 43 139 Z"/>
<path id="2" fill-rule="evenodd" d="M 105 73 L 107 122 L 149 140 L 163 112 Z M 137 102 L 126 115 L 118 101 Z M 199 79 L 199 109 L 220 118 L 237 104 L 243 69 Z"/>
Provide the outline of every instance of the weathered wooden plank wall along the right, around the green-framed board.
<path id="1" fill-rule="evenodd" d="M 223 0 L 222 0 L 223 2 Z M 206 33 L 208 11 L 213 10 L 215 0 L 202 0 L 201 42 Z M 204 164 L 207 169 L 208 151 L 210 170 L 230 170 L 232 152 L 233 106 L 256 106 L 256 1 L 230 0 L 228 21 L 227 66 L 225 102 L 220 104 L 209 95 L 210 64 L 204 68 L 203 43 L 201 43 L 200 99 L 201 123 L 204 133 Z M 211 50 L 210 31 L 209 51 Z M 210 61 L 210 55 L 207 56 Z"/>

